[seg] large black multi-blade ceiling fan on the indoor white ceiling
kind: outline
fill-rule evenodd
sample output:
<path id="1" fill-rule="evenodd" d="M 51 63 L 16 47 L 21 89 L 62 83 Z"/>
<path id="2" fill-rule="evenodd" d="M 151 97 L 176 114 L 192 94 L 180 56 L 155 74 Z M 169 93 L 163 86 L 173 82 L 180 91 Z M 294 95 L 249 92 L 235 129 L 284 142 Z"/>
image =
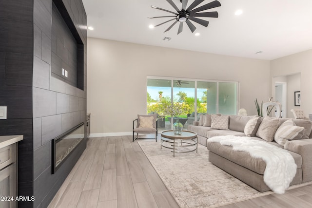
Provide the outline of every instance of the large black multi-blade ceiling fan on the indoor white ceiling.
<path id="1" fill-rule="evenodd" d="M 182 30 L 183 30 L 183 22 L 186 22 L 187 26 L 190 28 L 190 30 L 193 33 L 196 30 L 196 27 L 191 22 L 191 20 L 195 21 L 196 23 L 198 23 L 198 24 L 200 24 L 202 26 L 207 27 L 208 24 L 209 24 L 209 21 L 206 21 L 204 19 L 195 18 L 195 17 L 217 18 L 218 17 L 218 12 L 202 12 L 202 11 L 221 6 L 221 3 L 219 1 L 214 0 L 214 1 L 212 1 L 210 3 L 207 3 L 207 4 L 203 5 L 203 6 L 195 8 L 196 6 L 198 6 L 204 0 L 194 0 L 194 2 L 188 8 L 186 8 L 188 0 L 180 0 L 180 2 L 182 2 L 182 8 L 180 10 L 172 0 L 167 0 L 167 1 L 168 1 L 168 3 L 170 3 L 170 5 L 172 7 L 174 7 L 176 12 L 172 12 L 172 11 L 169 11 L 169 10 L 166 10 L 166 9 L 162 9 L 162 8 L 159 8 L 159 7 L 156 7 L 156 6 L 151 6 L 151 7 L 154 8 L 154 9 L 159 9 L 159 10 L 162 10 L 162 11 L 165 11 L 165 12 L 172 13 L 172 14 L 174 14 L 174 16 L 160 16 L 160 17 L 152 17 L 150 19 L 174 17 L 174 19 L 169 19 L 168 21 L 162 22 L 162 23 L 160 23 L 158 25 L 155 25 L 154 27 L 157 27 L 159 25 L 165 24 L 165 23 L 170 22 L 172 20 L 176 20 L 172 25 L 170 25 L 167 28 L 167 30 L 165 30 L 165 32 L 169 31 L 177 22 L 180 22 L 177 34 L 182 32 Z"/>

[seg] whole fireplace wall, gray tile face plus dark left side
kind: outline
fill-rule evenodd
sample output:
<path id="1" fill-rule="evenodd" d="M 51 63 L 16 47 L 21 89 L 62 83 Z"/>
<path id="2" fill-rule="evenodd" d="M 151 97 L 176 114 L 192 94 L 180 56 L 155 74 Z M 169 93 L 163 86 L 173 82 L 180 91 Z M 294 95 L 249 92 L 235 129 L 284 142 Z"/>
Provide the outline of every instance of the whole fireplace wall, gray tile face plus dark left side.
<path id="1" fill-rule="evenodd" d="M 52 0 L 0 0 L 0 106 L 7 106 L 0 135 L 24 135 L 18 146 L 18 195 L 35 196 L 34 202 L 19 202 L 19 208 L 47 207 L 86 145 L 80 144 L 51 174 L 51 140 L 86 117 L 86 13 L 82 0 L 54 1 L 66 8 L 83 43 L 83 56 L 77 55 L 83 62 L 80 89 L 51 76 L 52 40 L 57 38 Z"/>

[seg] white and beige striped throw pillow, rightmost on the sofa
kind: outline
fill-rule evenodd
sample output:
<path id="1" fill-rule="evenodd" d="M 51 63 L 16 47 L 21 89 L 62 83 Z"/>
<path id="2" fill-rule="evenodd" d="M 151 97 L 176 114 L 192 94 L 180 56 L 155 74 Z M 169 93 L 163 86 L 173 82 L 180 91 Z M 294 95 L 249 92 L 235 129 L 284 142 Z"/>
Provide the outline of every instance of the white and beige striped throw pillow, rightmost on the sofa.
<path id="1" fill-rule="evenodd" d="M 287 140 L 296 140 L 302 138 L 304 134 L 304 127 L 296 126 L 292 119 L 289 119 L 282 123 L 278 127 L 275 135 L 274 141 L 277 144 L 285 145 Z"/>

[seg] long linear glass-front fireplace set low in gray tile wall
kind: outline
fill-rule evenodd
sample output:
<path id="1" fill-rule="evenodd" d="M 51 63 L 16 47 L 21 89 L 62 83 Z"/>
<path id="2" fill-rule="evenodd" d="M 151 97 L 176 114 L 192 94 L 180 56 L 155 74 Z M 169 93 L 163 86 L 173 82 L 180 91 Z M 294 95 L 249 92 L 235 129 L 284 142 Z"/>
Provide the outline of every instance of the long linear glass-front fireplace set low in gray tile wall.
<path id="1" fill-rule="evenodd" d="M 84 135 L 84 123 L 81 123 L 52 140 L 52 174 L 84 139 Z"/>

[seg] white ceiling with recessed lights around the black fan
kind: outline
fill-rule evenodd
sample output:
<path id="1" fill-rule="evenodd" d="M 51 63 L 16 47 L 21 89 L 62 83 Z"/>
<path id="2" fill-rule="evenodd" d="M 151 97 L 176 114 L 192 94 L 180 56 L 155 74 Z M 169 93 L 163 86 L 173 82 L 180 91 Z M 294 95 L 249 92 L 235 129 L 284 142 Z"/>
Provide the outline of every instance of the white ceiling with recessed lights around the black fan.
<path id="1" fill-rule="evenodd" d="M 173 21 L 148 27 L 171 19 L 148 19 L 171 15 L 151 5 L 175 11 L 166 0 L 82 1 L 88 26 L 94 27 L 88 37 L 267 60 L 312 49 L 312 0 L 219 0 L 222 6 L 209 10 L 217 11 L 219 18 L 202 18 L 209 21 L 207 28 L 193 22 L 198 37 L 186 23 L 179 35 L 178 23 L 163 33 Z M 179 0 L 173 1 L 181 7 Z M 235 16 L 237 9 L 243 14 Z M 263 53 L 255 54 L 258 51 Z"/>

